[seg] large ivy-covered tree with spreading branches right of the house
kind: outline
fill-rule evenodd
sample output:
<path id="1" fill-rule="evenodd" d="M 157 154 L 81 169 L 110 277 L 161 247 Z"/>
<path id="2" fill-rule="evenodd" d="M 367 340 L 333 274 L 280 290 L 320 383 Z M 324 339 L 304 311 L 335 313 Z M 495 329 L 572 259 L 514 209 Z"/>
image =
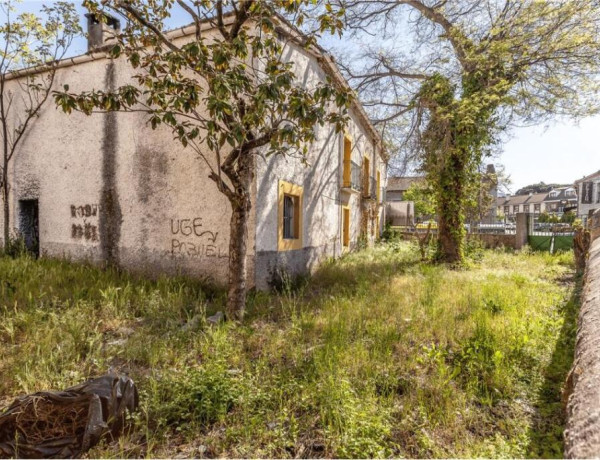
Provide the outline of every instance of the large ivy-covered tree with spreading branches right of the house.
<path id="1" fill-rule="evenodd" d="M 385 129 L 405 136 L 438 203 L 442 261 L 463 259 L 477 167 L 512 123 L 599 107 L 597 0 L 338 0 L 377 37 L 345 72 Z"/>

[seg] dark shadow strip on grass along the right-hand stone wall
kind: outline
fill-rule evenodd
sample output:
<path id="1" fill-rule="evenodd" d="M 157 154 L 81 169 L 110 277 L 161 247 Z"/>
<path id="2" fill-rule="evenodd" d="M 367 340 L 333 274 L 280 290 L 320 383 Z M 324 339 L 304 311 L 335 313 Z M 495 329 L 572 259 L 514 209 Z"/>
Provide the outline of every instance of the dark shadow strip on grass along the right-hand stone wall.
<path id="1" fill-rule="evenodd" d="M 537 395 L 536 413 L 529 433 L 528 458 L 563 457 L 566 411 L 562 388 L 574 359 L 581 282 L 580 277 L 576 278 L 571 298 L 563 306 L 564 323 L 550 364 L 544 369 L 544 383 Z"/>

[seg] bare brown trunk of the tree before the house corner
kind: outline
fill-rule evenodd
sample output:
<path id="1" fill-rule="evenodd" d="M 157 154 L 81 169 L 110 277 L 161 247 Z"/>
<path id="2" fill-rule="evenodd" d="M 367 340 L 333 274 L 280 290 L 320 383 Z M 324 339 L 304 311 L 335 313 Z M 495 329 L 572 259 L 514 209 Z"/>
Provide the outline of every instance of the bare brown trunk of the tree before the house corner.
<path id="1" fill-rule="evenodd" d="M 244 200 L 245 201 L 245 200 Z M 246 310 L 247 242 L 249 203 L 232 203 L 229 230 L 229 290 L 227 317 L 241 320 Z"/>

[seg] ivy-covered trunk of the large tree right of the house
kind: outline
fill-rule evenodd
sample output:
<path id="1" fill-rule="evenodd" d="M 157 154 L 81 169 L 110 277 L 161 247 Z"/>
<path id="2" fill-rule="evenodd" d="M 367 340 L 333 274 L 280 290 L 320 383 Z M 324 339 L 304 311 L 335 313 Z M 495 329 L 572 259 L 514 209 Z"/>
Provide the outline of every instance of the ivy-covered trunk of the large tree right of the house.
<path id="1" fill-rule="evenodd" d="M 467 171 L 461 152 L 448 156 L 440 172 L 438 197 L 438 254 L 440 262 L 461 264 L 463 262 L 464 200 L 467 187 Z"/>

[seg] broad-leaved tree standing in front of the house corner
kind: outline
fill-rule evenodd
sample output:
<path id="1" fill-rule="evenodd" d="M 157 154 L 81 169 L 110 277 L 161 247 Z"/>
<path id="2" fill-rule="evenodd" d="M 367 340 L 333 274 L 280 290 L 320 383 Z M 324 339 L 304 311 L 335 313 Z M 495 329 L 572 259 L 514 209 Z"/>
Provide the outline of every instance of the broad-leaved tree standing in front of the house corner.
<path id="1" fill-rule="evenodd" d="M 346 122 L 349 88 L 327 80 L 307 87 L 286 60 L 285 47 L 314 46 L 317 32 L 336 31 L 328 7 L 318 31 L 300 34 L 310 0 L 145 0 L 84 2 L 101 18 L 109 8 L 126 20 L 112 48 L 137 69 L 135 84 L 113 92 L 56 95 L 66 112 L 142 111 L 153 128 L 165 124 L 198 154 L 210 179 L 231 204 L 227 313 L 241 318 L 246 305 L 246 244 L 257 156 L 306 155 L 315 124 Z M 194 34 L 176 43 L 165 19 L 176 7 L 190 16 Z M 279 11 L 289 18 L 275 16 Z"/>

